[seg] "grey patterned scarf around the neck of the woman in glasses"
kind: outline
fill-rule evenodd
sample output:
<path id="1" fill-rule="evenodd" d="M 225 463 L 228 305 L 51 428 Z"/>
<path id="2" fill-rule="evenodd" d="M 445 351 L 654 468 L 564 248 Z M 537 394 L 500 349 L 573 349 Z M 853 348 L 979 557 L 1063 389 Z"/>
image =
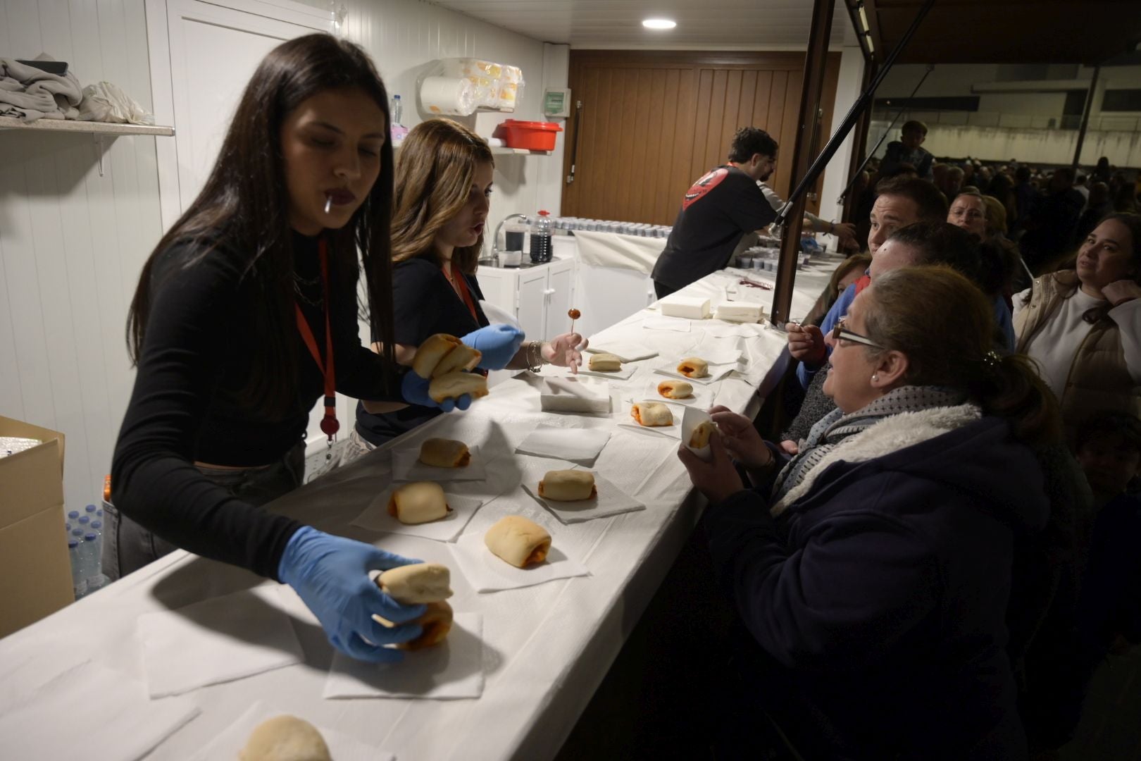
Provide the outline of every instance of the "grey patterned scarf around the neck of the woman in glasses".
<path id="1" fill-rule="evenodd" d="M 808 438 L 800 447 L 800 454 L 793 458 L 777 476 L 772 485 L 771 503 L 779 501 L 788 489 L 804 480 L 804 476 L 820 463 L 824 455 L 849 436 L 855 436 L 884 418 L 901 412 L 950 407 L 965 400 L 966 395 L 962 391 L 939 386 L 903 386 L 849 415 L 836 407 L 812 426 Z"/>

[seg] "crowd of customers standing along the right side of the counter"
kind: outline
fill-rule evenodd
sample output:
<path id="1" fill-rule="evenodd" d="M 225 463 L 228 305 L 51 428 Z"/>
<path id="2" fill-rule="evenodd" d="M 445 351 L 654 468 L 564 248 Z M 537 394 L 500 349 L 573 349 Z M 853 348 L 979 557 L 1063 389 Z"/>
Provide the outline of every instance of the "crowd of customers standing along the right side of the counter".
<path id="1" fill-rule="evenodd" d="M 1120 211 L 925 131 L 866 183 L 867 258 L 786 325 L 788 429 L 714 408 L 713 461 L 679 456 L 748 632 L 743 713 L 804 758 L 1053 758 L 1141 643 L 1141 216 L 1108 162 Z"/>

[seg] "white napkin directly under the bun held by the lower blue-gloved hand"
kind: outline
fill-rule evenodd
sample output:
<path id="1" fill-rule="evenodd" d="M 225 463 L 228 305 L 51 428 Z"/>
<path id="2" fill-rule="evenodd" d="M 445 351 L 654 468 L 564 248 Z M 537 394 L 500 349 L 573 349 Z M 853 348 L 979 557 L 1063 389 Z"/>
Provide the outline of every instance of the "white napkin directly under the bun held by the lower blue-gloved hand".
<path id="1" fill-rule="evenodd" d="M 479 697 L 484 691 L 483 640 L 483 615 L 456 613 L 447 639 L 405 653 L 399 663 L 365 663 L 337 653 L 323 697 Z"/>

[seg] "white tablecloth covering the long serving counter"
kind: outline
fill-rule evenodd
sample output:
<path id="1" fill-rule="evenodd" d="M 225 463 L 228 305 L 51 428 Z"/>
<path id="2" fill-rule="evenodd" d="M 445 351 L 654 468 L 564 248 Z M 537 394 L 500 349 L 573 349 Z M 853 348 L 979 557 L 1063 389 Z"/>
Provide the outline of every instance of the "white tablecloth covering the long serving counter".
<path id="1" fill-rule="evenodd" d="M 760 273 L 754 276 L 763 278 Z M 725 286 L 738 278 L 739 273 L 715 273 L 686 292 L 709 296 L 715 303 L 723 298 Z M 817 278 L 796 294 L 794 313 L 808 310 L 819 292 Z M 756 291 L 756 297 L 768 310 L 771 291 Z M 712 389 L 713 400 L 742 412 L 756 411 L 758 388 L 767 378 L 771 380 L 772 369 L 783 354 L 782 332 L 752 325 L 746 326 L 741 338 L 712 338 L 711 333 L 723 333 L 731 326 L 709 319 L 695 322 L 688 333 L 642 330 L 641 321 L 650 314 L 655 313 L 640 311 L 604 331 L 604 338 L 645 342 L 662 355 L 637 363 L 631 379 L 618 383 L 623 394 L 641 394 L 654 377 L 654 363 L 663 357 L 699 356 L 703 348 L 741 348 L 746 358 L 741 365 L 743 372 L 717 383 Z M 543 372 L 551 373 L 552 369 Z M 398 759 L 553 756 L 673 562 L 699 509 L 675 456 L 674 439 L 617 428 L 622 415 L 618 410 L 610 415 L 543 413 L 539 387 L 527 374 L 499 384 L 468 412 L 440 415 L 272 505 L 275 511 L 323 531 L 375 541 L 405 556 L 448 562 L 447 548 L 438 542 L 378 535 L 350 526 L 389 485 L 390 448 L 418 446 L 432 436 L 480 446 L 487 456 L 488 481 L 471 484 L 470 488 L 489 501 L 472 517 L 463 534 L 482 535 L 504 515 L 542 510 L 519 487 L 520 473 L 513 454 L 539 424 L 612 431 L 594 469 L 647 509 L 560 528 L 563 548 L 586 565 L 589 576 L 478 594 L 462 575 L 453 574 L 452 606 L 456 612 L 483 615 L 486 683 L 480 698 L 323 699 L 332 653 L 318 628 L 297 622 L 305 663 L 187 693 L 184 697 L 201 707 L 201 715 L 149 758 L 191 758 L 259 699 L 316 726 L 395 752 Z M 136 637 L 136 620 L 140 614 L 179 608 L 260 581 L 243 569 L 177 551 L 0 640 L 0 673 L 9 673 L 11 681 L 17 682 L 6 683 L 5 690 L 33 695 L 34 688 L 51 675 L 50 670 L 17 666 L 40 659 L 50 664 L 91 658 L 121 672 L 124 679 L 141 682 L 143 650 Z M 91 710 L 98 711 L 98 705 Z M 66 721 L 66 717 L 56 720 Z M 7 744 L 0 737 L 0 747 Z M 82 754 L 82 748 L 76 752 Z"/>

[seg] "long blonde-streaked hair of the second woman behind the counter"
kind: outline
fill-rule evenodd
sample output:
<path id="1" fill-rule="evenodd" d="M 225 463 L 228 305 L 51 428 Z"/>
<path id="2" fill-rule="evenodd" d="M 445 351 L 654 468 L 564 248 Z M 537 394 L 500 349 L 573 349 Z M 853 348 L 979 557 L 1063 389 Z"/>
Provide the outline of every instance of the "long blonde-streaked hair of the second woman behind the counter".
<path id="1" fill-rule="evenodd" d="M 476 167 L 495 165 L 487 141 L 451 119 L 429 119 L 412 128 L 396 160 L 393 195 L 393 261 L 438 253 L 436 234 L 468 202 Z M 455 249 L 452 266 L 474 274 L 483 234 L 474 245 Z"/>

